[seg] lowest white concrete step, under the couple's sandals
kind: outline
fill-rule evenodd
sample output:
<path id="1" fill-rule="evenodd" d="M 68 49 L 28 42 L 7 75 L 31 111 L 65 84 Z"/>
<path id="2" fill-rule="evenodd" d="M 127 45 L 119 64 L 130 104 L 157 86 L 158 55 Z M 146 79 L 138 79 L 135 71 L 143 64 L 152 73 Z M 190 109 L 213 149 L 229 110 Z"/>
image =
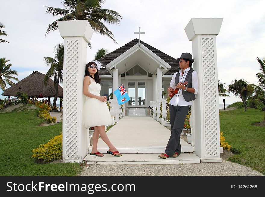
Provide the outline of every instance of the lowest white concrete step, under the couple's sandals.
<path id="1" fill-rule="evenodd" d="M 161 153 L 160 153 L 161 154 Z M 111 154 L 104 154 L 104 157 L 97 157 L 88 154 L 84 160 L 87 164 L 103 164 L 103 165 L 142 165 L 142 164 L 184 164 L 184 163 L 200 163 L 201 159 L 194 153 L 182 153 L 179 157 L 162 159 L 159 154 L 122 154 L 116 157 Z"/>

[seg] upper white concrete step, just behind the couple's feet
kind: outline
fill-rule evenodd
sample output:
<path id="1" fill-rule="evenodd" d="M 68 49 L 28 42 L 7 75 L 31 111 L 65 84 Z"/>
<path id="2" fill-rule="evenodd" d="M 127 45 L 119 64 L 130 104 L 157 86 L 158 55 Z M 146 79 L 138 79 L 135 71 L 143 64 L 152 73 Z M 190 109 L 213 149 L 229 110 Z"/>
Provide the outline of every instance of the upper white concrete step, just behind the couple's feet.
<path id="1" fill-rule="evenodd" d="M 117 150 L 123 154 L 123 153 L 129 153 L 129 154 L 135 154 L 135 153 L 155 153 L 155 154 L 161 154 L 165 152 L 165 147 L 164 146 L 156 146 L 156 147 L 116 147 Z M 98 151 L 101 153 L 107 153 L 109 150 L 108 147 L 97 147 Z M 89 153 L 92 151 L 92 146 L 89 147 Z M 193 148 L 189 144 L 181 145 L 181 152 L 182 153 L 192 153 Z"/>

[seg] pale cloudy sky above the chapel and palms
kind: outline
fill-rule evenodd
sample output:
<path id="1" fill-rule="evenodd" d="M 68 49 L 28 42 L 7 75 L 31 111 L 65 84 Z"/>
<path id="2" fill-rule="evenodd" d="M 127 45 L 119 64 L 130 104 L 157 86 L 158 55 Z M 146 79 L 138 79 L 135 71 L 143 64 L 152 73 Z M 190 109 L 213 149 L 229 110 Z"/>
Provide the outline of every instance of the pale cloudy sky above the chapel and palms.
<path id="1" fill-rule="evenodd" d="M 54 57 L 53 48 L 63 39 L 59 30 L 45 37 L 47 25 L 58 16 L 46 14 L 46 7 L 64 8 L 62 0 L 14 0 L 1 1 L 0 22 L 8 36 L 1 39 L 0 57 L 10 60 L 11 69 L 17 70 L 18 78 L 24 79 L 33 71 L 47 73 L 43 57 Z M 183 52 L 192 54 L 184 28 L 191 18 L 223 18 L 216 37 L 218 79 L 229 85 L 234 79 L 257 83 L 255 74 L 260 72 L 257 57 L 265 58 L 265 2 L 263 0 L 105 0 L 102 8 L 121 14 L 120 25 L 105 24 L 114 34 L 110 38 L 94 33 L 92 49 L 87 48 L 87 62 L 95 57 L 98 49 L 109 52 L 138 38 L 135 31 L 144 31 L 141 40 L 160 51 L 179 58 Z M 0 90 L 0 98 L 2 96 Z M 241 101 L 238 97 L 225 97 L 226 103 Z M 223 97 L 219 97 L 219 104 Z"/>

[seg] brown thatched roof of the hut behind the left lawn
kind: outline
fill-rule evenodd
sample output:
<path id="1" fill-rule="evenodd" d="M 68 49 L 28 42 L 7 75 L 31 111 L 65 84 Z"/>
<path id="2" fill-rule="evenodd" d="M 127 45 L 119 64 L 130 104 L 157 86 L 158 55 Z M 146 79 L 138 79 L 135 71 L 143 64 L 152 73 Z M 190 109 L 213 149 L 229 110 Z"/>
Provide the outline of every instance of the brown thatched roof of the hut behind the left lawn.
<path id="1" fill-rule="evenodd" d="M 33 71 L 32 74 L 22 79 L 20 82 L 7 88 L 2 95 L 16 97 L 16 92 L 21 91 L 27 93 L 29 97 L 38 97 L 40 94 L 42 94 L 42 97 L 55 97 L 54 81 L 48 79 L 47 85 L 45 86 L 43 82 L 44 77 L 45 74 Z M 63 97 L 63 88 L 60 85 L 58 86 L 57 97 Z"/>

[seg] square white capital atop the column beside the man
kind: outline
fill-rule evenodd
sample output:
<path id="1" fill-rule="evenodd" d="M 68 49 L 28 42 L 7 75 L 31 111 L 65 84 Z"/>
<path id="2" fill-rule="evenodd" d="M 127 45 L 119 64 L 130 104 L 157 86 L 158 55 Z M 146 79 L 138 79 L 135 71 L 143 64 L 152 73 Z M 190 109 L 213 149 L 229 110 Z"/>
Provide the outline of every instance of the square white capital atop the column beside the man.
<path id="1" fill-rule="evenodd" d="M 223 19 L 191 19 L 185 27 L 188 39 L 191 41 L 197 34 L 218 35 Z"/>

